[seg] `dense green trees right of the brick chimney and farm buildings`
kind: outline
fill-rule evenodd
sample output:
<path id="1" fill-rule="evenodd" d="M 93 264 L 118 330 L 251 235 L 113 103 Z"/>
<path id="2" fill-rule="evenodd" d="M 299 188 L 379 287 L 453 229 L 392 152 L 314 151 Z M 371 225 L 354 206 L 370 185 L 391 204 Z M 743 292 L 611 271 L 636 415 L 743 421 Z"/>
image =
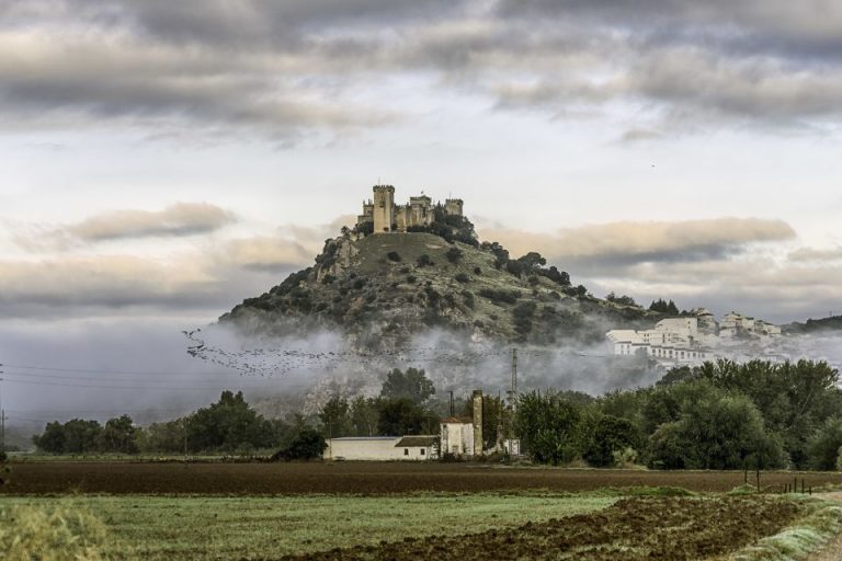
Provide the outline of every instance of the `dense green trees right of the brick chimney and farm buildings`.
<path id="1" fill-rule="evenodd" d="M 842 451 L 838 381 L 824 362 L 718 360 L 595 399 L 521 394 L 515 433 L 536 461 L 556 465 L 834 470 Z"/>

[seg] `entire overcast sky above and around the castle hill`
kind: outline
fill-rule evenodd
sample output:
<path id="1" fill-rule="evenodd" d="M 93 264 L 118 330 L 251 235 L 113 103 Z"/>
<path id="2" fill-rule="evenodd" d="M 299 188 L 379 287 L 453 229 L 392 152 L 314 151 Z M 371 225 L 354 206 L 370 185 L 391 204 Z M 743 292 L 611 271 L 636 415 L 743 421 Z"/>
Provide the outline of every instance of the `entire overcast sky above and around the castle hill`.
<path id="1" fill-rule="evenodd" d="M 835 0 L 4 0 L 0 318 L 210 321 L 378 181 L 596 296 L 840 312 L 840 99 Z"/>

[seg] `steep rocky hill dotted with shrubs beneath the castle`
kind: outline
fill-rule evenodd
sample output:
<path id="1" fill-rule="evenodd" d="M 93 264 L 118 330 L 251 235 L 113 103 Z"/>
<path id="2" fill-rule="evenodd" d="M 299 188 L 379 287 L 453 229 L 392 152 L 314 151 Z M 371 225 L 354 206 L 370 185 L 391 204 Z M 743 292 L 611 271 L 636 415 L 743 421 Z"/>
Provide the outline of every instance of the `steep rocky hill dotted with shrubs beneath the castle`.
<path id="1" fill-rule="evenodd" d="M 465 236 L 465 228 L 456 236 L 447 228 L 429 231 L 343 229 L 312 266 L 246 299 L 220 322 L 249 334 L 339 329 L 360 348 L 394 348 L 430 328 L 475 342 L 595 342 L 607 329 L 663 317 L 594 298 L 537 253 L 511 259 L 498 243 Z"/>

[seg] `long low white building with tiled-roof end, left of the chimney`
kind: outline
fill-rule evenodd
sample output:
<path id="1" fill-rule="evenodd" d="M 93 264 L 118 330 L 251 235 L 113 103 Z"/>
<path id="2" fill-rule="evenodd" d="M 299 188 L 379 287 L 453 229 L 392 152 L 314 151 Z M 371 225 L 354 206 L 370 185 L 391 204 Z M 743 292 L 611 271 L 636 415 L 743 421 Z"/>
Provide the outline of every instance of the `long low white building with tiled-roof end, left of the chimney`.
<path id="1" fill-rule="evenodd" d="M 439 437 L 348 436 L 329 438 L 322 454 L 326 460 L 429 460 L 439 457 Z"/>

